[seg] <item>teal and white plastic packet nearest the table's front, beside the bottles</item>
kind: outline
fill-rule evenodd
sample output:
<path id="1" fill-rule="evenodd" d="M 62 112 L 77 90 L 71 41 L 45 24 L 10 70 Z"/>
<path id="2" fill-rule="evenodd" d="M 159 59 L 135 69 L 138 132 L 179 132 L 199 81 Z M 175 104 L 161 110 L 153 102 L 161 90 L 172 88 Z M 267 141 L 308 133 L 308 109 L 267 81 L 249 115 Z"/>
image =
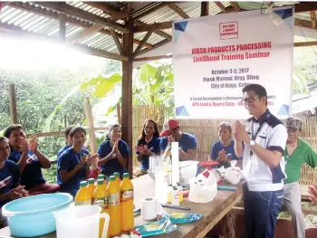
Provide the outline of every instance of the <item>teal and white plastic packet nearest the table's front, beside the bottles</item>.
<path id="1" fill-rule="evenodd" d="M 168 215 L 164 214 L 158 222 L 138 225 L 134 227 L 134 230 L 142 237 L 148 237 L 162 233 L 172 233 L 178 230 L 178 226 L 170 221 Z"/>

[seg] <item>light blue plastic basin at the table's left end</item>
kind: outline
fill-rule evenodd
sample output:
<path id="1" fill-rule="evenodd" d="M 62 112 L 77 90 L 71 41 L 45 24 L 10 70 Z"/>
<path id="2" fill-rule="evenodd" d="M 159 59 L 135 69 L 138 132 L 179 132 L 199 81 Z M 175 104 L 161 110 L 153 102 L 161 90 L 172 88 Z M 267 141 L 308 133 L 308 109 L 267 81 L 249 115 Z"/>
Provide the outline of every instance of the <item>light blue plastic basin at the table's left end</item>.
<path id="1" fill-rule="evenodd" d="M 71 203 L 69 194 L 33 195 L 7 203 L 2 207 L 2 214 L 8 218 L 12 235 L 34 237 L 56 231 L 52 212 L 65 209 Z"/>

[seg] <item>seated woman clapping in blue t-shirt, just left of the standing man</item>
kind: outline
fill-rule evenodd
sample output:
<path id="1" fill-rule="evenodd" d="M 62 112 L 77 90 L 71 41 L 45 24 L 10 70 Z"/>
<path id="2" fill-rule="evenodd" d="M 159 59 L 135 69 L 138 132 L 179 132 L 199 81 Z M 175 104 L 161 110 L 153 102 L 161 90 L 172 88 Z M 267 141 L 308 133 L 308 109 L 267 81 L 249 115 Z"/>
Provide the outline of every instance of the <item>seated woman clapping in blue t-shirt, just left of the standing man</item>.
<path id="1" fill-rule="evenodd" d="M 242 157 L 235 156 L 235 140 L 231 138 L 232 128 L 227 122 L 218 126 L 219 141 L 216 141 L 210 151 L 210 158 L 219 162 L 218 167 L 230 167 L 231 160 L 239 160 Z"/>

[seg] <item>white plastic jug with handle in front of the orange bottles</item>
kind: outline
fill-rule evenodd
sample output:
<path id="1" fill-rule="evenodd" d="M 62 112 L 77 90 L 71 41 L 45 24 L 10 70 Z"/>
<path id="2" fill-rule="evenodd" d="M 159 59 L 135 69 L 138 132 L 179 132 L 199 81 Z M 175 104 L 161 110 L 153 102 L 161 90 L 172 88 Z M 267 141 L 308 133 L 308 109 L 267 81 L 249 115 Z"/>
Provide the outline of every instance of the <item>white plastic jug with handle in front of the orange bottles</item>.
<path id="1" fill-rule="evenodd" d="M 57 238 L 98 238 L 100 218 L 105 219 L 102 237 L 107 235 L 109 214 L 101 214 L 97 205 L 72 206 L 53 212 Z"/>

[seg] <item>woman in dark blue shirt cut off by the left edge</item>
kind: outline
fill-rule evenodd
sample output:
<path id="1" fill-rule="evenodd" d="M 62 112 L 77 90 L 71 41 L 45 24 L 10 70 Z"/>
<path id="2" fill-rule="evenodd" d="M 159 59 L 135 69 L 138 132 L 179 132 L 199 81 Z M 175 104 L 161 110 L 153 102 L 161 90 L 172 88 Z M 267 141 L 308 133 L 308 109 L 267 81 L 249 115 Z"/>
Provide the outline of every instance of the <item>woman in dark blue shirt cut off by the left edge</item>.
<path id="1" fill-rule="evenodd" d="M 2 215 L 2 206 L 17 198 L 28 195 L 24 186 L 20 186 L 19 167 L 7 158 L 10 156 L 9 140 L 0 137 L 0 229 L 7 225 Z"/>

